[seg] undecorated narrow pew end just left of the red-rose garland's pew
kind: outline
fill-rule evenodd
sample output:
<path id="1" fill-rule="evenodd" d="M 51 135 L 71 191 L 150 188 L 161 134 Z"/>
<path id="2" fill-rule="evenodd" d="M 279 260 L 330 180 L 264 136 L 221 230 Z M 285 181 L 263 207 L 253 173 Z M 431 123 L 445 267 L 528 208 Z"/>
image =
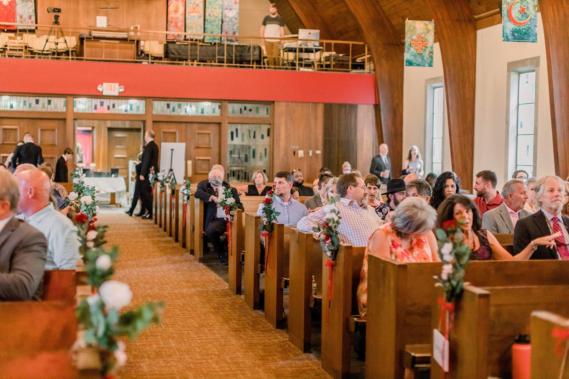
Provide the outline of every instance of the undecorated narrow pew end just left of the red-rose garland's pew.
<path id="1" fill-rule="evenodd" d="M 261 216 L 245 214 L 245 302 L 252 309 L 261 309 L 259 274 L 261 273 Z"/>

